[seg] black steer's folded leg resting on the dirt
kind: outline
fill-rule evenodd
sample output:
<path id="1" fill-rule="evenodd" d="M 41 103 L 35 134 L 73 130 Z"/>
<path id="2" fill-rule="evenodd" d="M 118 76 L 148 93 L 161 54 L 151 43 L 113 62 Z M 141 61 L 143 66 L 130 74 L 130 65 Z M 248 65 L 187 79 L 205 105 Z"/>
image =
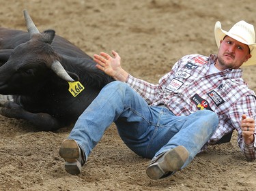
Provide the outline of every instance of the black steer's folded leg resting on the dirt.
<path id="1" fill-rule="evenodd" d="M 37 126 L 40 131 L 54 131 L 61 127 L 59 121 L 51 115 L 45 113 L 33 114 L 12 101 L 0 101 L 0 114 L 8 118 L 28 120 Z"/>

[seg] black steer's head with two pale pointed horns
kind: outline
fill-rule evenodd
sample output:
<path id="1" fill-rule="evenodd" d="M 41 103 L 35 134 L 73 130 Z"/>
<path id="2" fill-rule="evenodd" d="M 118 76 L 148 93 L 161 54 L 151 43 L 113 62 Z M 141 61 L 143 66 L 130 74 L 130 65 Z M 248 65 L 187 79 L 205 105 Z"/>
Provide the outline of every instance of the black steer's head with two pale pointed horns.
<path id="1" fill-rule="evenodd" d="M 55 31 L 40 33 L 26 10 L 24 16 L 30 40 L 16 46 L 9 60 L 0 67 L 1 94 L 27 94 L 31 88 L 39 89 L 53 73 L 62 80 L 74 82 L 51 46 Z"/>

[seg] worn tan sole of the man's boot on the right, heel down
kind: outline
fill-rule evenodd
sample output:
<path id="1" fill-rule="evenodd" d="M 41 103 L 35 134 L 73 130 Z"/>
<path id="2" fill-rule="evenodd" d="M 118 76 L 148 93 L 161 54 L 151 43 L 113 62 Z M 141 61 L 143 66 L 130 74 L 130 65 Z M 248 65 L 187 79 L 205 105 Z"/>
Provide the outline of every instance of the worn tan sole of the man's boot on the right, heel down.
<path id="1" fill-rule="evenodd" d="M 188 159 L 188 150 L 184 146 L 177 146 L 166 152 L 159 160 L 147 167 L 147 176 L 160 179 L 167 173 L 179 171 Z"/>

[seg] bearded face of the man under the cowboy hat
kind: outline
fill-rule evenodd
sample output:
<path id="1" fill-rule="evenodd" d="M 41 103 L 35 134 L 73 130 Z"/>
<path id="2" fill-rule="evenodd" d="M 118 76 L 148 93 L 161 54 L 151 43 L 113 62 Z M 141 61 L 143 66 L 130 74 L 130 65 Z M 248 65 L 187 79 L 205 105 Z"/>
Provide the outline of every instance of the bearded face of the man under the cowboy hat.
<path id="1" fill-rule="evenodd" d="M 216 68 L 224 69 L 239 69 L 239 67 L 251 58 L 249 47 L 242 44 L 240 41 L 226 36 L 221 40 L 221 46 L 218 49 L 218 59 Z"/>

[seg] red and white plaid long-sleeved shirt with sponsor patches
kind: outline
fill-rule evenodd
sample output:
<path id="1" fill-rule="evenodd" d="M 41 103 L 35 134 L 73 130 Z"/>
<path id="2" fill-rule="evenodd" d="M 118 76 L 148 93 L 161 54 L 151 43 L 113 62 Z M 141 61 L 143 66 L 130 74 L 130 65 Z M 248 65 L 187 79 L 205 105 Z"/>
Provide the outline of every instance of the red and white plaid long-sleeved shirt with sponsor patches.
<path id="1" fill-rule="evenodd" d="M 216 55 L 191 54 L 175 63 L 173 69 L 150 84 L 128 75 L 126 83 L 136 90 L 149 105 L 166 105 L 175 116 L 188 116 L 200 109 L 218 114 L 219 124 L 207 145 L 216 143 L 234 129 L 238 131 L 238 145 L 248 160 L 256 158 L 256 141 L 244 143 L 240 122 L 242 114 L 256 120 L 256 97 L 242 80 L 242 69 L 226 69 L 210 73 Z"/>

